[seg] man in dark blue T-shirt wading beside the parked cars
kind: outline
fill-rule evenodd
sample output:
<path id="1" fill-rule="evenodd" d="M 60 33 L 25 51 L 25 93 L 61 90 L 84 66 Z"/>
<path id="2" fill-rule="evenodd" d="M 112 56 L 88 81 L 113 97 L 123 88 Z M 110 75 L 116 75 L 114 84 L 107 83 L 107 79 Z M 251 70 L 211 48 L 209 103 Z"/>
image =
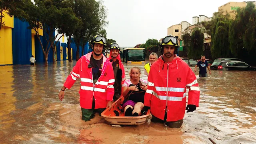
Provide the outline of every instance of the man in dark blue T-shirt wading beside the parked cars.
<path id="1" fill-rule="evenodd" d="M 199 66 L 199 77 L 208 77 L 206 67 L 209 70 L 209 74 L 212 74 L 210 70 L 210 66 L 208 66 L 208 62 L 205 60 L 205 56 L 201 57 L 201 60 L 198 61 L 198 63 L 195 66 L 195 72 L 196 72 L 196 67 Z"/>

